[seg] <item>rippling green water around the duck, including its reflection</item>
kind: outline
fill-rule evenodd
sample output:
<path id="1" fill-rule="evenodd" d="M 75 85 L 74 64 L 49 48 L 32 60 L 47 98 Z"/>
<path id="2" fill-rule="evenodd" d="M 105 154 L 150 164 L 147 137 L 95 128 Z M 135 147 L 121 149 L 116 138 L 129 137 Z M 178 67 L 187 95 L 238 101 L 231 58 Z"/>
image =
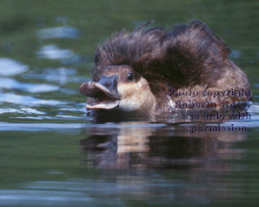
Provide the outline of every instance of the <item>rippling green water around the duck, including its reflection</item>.
<path id="1" fill-rule="evenodd" d="M 1 0 L 0 206 L 258 205 L 258 9 L 258 1 Z M 231 46 L 251 83 L 249 118 L 225 120 L 223 132 L 209 131 L 218 120 L 182 114 L 99 124 L 86 116 L 79 86 L 97 45 L 151 19 L 168 30 L 200 19 Z"/>

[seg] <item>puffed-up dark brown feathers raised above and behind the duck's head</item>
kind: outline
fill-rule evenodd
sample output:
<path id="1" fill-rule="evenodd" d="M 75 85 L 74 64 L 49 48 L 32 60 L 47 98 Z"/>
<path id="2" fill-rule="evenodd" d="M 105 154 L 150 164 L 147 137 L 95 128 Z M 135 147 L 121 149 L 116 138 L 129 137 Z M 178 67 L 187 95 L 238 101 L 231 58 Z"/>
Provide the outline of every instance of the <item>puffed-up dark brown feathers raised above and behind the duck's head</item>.
<path id="1" fill-rule="evenodd" d="M 194 20 L 189 26 L 175 26 L 171 32 L 164 28 L 145 30 L 149 24 L 151 21 L 132 33 L 122 30 L 104 42 L 95 51 L 93 80 L 99 80 L 105 66 L 119 64 L 132 66 L 148 82 L 158 78 L 176 86 L 198 84 L 222 70 L 230 49 L 206 24 Z"/>

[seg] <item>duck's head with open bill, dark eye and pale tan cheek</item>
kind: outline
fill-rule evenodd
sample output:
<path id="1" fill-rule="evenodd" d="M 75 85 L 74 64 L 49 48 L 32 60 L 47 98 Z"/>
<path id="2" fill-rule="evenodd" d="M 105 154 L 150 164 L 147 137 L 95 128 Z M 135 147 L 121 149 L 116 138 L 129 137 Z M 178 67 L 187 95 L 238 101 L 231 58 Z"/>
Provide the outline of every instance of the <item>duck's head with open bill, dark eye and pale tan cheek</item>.
<path id="1" fill-rule="evenodd" d="M 151 114 L 156 101 L 146 79 L 131 66 L 106 66 L 99 81 L 81 84 L 80 91 L 90 101 L 86 109 L 106 109 L 131 114 Z"/>

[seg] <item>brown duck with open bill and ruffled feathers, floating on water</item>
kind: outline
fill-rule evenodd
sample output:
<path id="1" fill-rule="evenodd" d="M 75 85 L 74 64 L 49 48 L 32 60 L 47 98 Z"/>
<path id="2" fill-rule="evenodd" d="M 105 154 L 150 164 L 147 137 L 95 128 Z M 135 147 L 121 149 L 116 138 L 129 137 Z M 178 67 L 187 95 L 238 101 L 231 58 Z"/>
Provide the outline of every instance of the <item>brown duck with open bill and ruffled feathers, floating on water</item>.
<path id="1" fill-rule="evenodd" d="M 251 100 L 247 75 L 207 24 L 146 29 L 151 23 L 123 29 L 95 51 L 92 80 L 79 89 L 90 116 L 162 116 Z"/>

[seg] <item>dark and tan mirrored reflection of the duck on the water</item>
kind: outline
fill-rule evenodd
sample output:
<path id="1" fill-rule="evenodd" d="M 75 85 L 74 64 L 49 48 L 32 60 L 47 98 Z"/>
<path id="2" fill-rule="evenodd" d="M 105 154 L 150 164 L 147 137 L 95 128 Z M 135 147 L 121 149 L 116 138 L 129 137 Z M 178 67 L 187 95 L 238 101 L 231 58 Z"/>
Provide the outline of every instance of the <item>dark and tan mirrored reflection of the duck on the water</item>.
<path id="1" fill-rule="evenodd" d="M 243 153 L 231 145 L 247 138 L 247 132 L 190 132 L 190 125 L 140 122 L 108 125 L 110 127 L 99 125 L 87 129 L 87 137 L 80 142 L 84 161 L 89 167 L 137 168 L 148 172 L 165 167 L 222 170 L 219 168 L 222 160 Z"/>

